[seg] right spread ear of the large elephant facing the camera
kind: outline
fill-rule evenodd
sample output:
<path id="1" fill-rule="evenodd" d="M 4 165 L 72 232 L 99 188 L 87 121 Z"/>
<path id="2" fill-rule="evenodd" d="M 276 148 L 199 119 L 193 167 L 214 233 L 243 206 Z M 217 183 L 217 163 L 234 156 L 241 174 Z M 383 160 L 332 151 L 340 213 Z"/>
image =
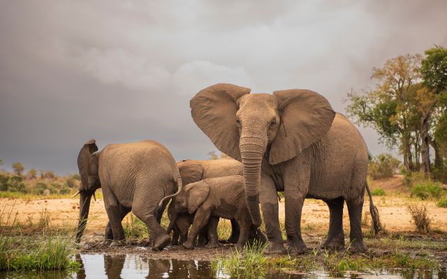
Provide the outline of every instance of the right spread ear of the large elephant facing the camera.
<path id="1" fill-rule="evenodd" d="M 304 89 L 274 91 L 281 123 L 272 142 L 269 163 L 290 160 L 328 133 L 335 112 L 320 94 Z"/>

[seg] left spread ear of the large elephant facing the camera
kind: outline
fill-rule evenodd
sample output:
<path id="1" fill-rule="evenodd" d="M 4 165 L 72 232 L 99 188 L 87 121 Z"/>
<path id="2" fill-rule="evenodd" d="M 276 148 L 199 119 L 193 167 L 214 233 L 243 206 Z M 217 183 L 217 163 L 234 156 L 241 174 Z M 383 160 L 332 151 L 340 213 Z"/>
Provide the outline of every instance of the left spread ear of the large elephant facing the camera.
<path id="1" fill-rule="evenodd" d="M 228 156 L 241 160 L 239 128 L 236 124 L 237 99 L 250 89 L 233 84 L 214 84 L 194 96 L 189 103 L 191 116 L 212 143 Z"/>

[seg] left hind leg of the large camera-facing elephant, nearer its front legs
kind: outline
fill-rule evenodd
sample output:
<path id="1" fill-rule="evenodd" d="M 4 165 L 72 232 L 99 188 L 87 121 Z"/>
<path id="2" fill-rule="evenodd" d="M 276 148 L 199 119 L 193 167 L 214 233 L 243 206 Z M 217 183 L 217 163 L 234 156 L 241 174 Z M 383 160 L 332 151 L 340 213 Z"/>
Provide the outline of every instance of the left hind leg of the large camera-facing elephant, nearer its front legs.
<path id="1" fill-rule="evenodd" d="M 328 238 L 323 242 L 321 248 L 339 250 L 344 247 L 343 232 L 343 197 L 325 200 L 329 206 L 329 232 Z"/>

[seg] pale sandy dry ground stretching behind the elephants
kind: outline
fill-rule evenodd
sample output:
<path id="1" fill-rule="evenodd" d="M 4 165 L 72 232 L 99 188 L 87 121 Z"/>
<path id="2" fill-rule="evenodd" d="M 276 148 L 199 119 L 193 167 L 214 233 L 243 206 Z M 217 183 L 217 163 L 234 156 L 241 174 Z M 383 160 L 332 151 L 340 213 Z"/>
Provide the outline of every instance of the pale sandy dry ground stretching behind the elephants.
<path id="1" fill-rule="evenodd" d="M 378 207 L 381 223 L 388 232 L 409 233 L 414 231 L 411 216 L 407 209 L 409 204 L 424 204 L 432 218 L 432 229 L 447 231 L 447 209 L 439 208 L 433 201 L 420 201 L 411 199 L 406 187 L 402 185 L 402 176 L 394 176 L 391 179 L 374 181 L 371 186 L 382 188 L 386 196 L 374 196 L 374 204 Z M 43 212 L 50 217 L 50 226 L 75 227 L 79 215 L 79 199 L 0 199 L 0 209 L 3 211 L 1 218 L 3 224 L 9 218 L 10 222 L 17 214 L 20 223 L 32 220 L 38 222 Z M 369 212 L 369 202 L 365 199 L 365 212 Z M 10 214 L 9 214 L 10 213 Z M 284 223 L 284 199 L 279 204 L 279 219 Z M 105 229 L 108 218 L 105 213 L 102 200 L 96 202 L 92 199 L 89 213 L 89 223 L 86 234 L 101 234 Z M 349 216 L 347 207 L 344 206 L 344 229 L 349 231 Z M 126 222 L 126 220 L 124 220 Z M 306 235 L 322 235 L 328 231 L 329 211 L 328 206 L 316 199 L 306 199 L 302 211 L 302 232 Z"/>

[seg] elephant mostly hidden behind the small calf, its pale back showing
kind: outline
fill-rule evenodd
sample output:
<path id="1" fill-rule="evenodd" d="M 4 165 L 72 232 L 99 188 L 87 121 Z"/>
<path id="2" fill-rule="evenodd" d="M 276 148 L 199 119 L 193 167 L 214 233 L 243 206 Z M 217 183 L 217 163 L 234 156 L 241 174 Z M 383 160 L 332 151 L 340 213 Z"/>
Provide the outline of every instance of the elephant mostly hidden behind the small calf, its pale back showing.
<path id="1" fill-rule="evenodd" d="M 203 179 L 242 175 L 242 163 L 232 158 L 220 160 L 182 160 L 177 162 L 182 183 L 186 186 L 189 183 L 197 182 Z M 168 216 L 170 219 L 176 218 L 173 227 L 173 240 L 171 244 L 178 245 L 184 243 L 188 238 L 189 227 L 193 223 L 194 216 L 188 213 L 182 213 L 176 216 L 173 211 L 173 203 L 168 206 Z M 232 234 L 228 239 L 229 243 L 236 243 L 239 238 L 239 227 L 235 220 L 231 220 Z M 208 242 L 207 229 L 198 234 L 198 245 L 205 246 Z"/>

